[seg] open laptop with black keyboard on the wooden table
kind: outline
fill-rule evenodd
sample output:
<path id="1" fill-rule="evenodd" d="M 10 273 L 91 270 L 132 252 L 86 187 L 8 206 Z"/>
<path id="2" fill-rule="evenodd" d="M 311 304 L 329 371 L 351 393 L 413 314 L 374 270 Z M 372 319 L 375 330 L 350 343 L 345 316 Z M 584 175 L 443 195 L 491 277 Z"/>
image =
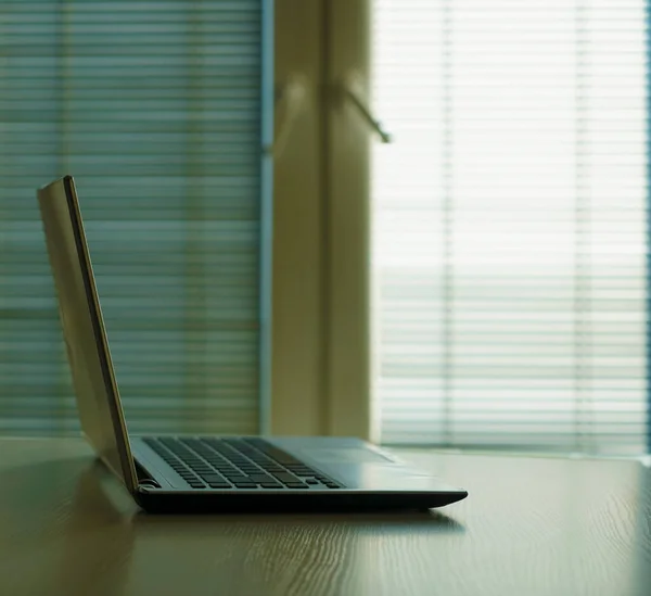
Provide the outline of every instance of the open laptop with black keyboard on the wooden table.
<path id="1" fill-rule="evenodd" d="M 141 508 L 429 509 L 468 495 L 355 438 L 129 435 L 73 177 L 38 202 L 82 433 Z"/>

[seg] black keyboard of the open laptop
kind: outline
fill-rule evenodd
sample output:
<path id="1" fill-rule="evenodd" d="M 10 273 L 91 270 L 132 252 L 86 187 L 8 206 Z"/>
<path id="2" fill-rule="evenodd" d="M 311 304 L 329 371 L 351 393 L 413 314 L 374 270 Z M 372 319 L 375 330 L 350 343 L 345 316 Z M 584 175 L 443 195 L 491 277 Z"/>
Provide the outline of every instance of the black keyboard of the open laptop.
<path id="1" fill-rule="evenodd" d="M 341 489 L 264 439 L 143 439 L 193 489 Z"/>

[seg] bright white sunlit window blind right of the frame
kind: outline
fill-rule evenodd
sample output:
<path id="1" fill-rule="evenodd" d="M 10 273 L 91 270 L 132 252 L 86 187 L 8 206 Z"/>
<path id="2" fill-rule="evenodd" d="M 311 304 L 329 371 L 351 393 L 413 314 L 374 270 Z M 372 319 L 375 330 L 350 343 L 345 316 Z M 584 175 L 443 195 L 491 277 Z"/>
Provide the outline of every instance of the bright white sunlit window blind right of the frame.
<path id="1" fill-rule="evenodd" d="M 643 0 L 373 0 L 381 440 L 644 451 Z"/>

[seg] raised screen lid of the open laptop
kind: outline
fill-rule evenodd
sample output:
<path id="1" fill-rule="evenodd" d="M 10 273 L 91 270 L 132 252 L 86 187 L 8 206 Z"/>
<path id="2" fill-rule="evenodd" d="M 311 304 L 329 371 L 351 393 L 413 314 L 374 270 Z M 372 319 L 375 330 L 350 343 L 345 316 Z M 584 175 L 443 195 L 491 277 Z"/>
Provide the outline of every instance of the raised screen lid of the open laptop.
<path id="1" fill-rule="evenodd" d="M 38 190 L 79 419 L 88 442 L 131 492 L 138 484 L 72 176 Z"/>

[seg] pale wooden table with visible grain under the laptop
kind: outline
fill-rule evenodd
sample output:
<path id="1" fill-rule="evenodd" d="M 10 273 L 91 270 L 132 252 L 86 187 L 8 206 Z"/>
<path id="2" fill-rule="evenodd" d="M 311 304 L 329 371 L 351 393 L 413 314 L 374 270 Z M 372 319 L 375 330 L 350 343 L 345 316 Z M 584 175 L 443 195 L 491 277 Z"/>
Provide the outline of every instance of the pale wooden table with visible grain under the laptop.
<path id="1" fill-rule="evenodd" d="M 79 440 L 0 441 L 0 595 L 650 596 L 638 461 L 403 453 L 439 512 L 155 517 Z"/>

